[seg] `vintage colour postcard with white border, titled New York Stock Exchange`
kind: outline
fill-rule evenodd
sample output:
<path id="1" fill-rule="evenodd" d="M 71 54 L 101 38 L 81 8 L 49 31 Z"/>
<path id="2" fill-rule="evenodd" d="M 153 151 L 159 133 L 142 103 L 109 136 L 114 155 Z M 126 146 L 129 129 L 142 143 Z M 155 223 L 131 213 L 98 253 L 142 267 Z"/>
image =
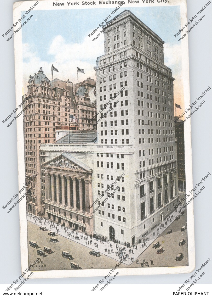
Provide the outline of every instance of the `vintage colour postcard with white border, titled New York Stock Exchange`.
<path id="1" fill-rule="evenodd" d="M 194 269 L 186 9 L 14 3 L 24 278 Z"/>

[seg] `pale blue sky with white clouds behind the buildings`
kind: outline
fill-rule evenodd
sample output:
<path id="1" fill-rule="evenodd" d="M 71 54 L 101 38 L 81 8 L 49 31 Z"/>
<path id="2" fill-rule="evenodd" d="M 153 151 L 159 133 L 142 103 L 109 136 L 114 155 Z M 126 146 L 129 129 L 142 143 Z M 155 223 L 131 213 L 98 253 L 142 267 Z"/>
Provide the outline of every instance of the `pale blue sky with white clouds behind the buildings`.
<path id="1" fill-rule="evenodd" d="M 164 62 L 175 78 L 174 99 L 183 104 L 181 45 L 174 37 L 181 28 L 180 7 L 124 7 L 119 8 L 115 15 L 125 9 L 129 9 L 165 42 Z M 37 73 L 40 67 L 52 79 L 52 64 L 59 70 L 58 73 L 53 72 L 54 78 L 76 83 L 76 68 L 79 67 L 85 72 L 79 73 L 79 81 L 88 77 L 96 79 L 93 67 L 97 57 L 104 54 L 104 35 L 93 41 L 101 28 L 93 38 L 88 34 L 111 11 L 112 8 L 33 10 L 33 18 L 22 28 L 24 93 L 29 75 Z"/>

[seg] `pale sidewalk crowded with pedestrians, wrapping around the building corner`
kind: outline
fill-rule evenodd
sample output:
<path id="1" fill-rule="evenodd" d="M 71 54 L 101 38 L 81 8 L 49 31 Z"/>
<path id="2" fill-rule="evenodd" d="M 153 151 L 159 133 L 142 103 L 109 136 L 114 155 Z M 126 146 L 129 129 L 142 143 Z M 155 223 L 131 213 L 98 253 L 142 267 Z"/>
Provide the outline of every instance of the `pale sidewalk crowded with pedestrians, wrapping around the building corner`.
<path id="1" fill-rule="evenodd" d="M 93 250 L 100 252 L 103 255 L 106 255 L 106 256 L 108 256 L 112 259 L 118 260 L 118 261 L 121 260 L 119 255 L 120 256 L 122 255 L 122 257 L 123 256 L 126 257 L 126 255 L 124 254 L 124 252 L 125 252 L 126 254 L 129 254 L 129 258 L 126 258 L 123 263 L 126 265 L 130 265 L 149 247 L 149 245 L 153 241 L 157 240 L 157 237 L 165 229 L 169 228 L 169 226 L 174 221 L 174 218 L 177 215 L 178 215 L 178 213 L 176 213 L 175 211 L 172 212 L 171 215 L 169 216 L 169 217 L 173 216 L 173 218 L 171 218 L 171 222 L 170 222 L 169 217 L 164 219 L 164 221 L 157 227 L 157 229 L 159 228 L 159 231 L 157 231 L 156 228 L 153 229 L 153 231 L 151 231 L 148 234 L 148 236 L 146 236 L 144 239 L 142 239 L 142 242 L 140 244 L 136 245 L 137 249 L 136 248 L 134 249 L 133 247 L 128 248 L 128 247 L 121 245 L 121 244 L 115 244 L 112 241 L 109 241 L 109 243 L 108 242 L 100 243 L 100 240 L 98 240 L 98 239 L 95 239 L 93 237 L 91 239 L 90 236 L 86 236 L 85 234 L 83 234 L 81 232 L 73 231 L 72 229 L 70 229 L 68 227 L 64 227 L 61 225 L 57 226 L 56 223 L 54 223 L 52 221 L 45 220 L 44 218 L 39 217 L 39 216 L 35 216 L 32 213 L 27 213 L 27 220 L 34 223 L 34 224 L 37 224 L 38 226 L 46 227 L 46 229 L 57 233 L 57 235 L 61 235 L 63 237 L 66 237 L 67 239 L 72 240 L 73 242 L 77 242 L 79 244 L 82 244 L 85 247 L 89 247 Z M 165 225 L 165 223 L 167 223 L 167 224 Z M 59 229 L 59 232 L 57 232 L 56 228 Z M 157 232 L 157 233 L 155 233 L 155 232 Z M 153 233 L 155 233 L 155 235 L 153 235 Z M 69 237 L 68 234 L 70 234 L 72 237 L 71 236 Z M 82 238 L 81 238 L 81 236 L 82 236 Z M 147 238 L 148 238 L 148 240 L 147 240 Z M 91 240 L 92 240 L 92 242 L 91 242 Z M 86 242 L 87 242 L 87 244 L 86 244 Z M 89 242 L 89 244 L 88 244 L 88 242 Z M 146 244 L 146 247 L 143 246 L 143 248 L 142 248 L 142 245 L 144 244 L 144 242 Z M 110 247 L 110 244 L 112 245 L 112 247 Z M 118 247 L 118 249 L 116 247 Z M 125 250 L 123 250 L 124 247 L 125 247 Z M 107 248 L 107 252 L 105 252 L 105 248 Z M 113 252 L 112 252 L 112 249 L 113 249 Z M 109 250 L 109 253 L 108 253 L 108 250 Z M 119 255 L 116 255 L 117 251 L 119 251 Z M 133 261 L 131 259 L 132 257 L 133 257 Z"/>

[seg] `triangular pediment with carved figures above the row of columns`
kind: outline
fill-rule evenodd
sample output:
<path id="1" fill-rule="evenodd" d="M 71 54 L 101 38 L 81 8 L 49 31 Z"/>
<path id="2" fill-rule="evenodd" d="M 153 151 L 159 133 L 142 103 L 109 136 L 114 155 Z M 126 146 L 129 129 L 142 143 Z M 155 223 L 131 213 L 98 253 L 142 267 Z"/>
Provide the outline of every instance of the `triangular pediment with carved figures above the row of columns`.
<path id="1" fill-rule="evenodd" d="M 78 172 L 92 172 L 93 169 L 89 168 L 87 165 L 76 159 L 75 157 L 69 155 L 68 153 L 63 153 L 42 165 L 48 168 L 62 168 L 66 170 L 78 171 Z"/>

